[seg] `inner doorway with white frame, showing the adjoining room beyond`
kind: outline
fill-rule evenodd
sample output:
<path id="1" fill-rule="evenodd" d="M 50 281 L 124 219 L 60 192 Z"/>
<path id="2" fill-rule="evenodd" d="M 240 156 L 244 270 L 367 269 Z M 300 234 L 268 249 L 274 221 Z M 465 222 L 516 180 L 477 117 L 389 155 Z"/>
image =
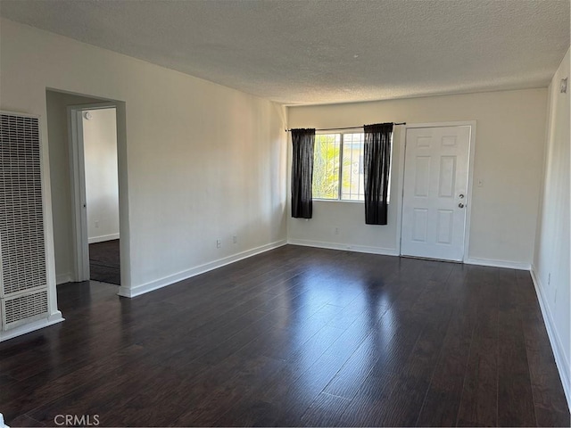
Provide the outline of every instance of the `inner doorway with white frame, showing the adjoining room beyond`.
<path id="1" fill-rule="evenodd" d="M 121 284 L 117 109 L 68 106 L 76 276 Z"/>

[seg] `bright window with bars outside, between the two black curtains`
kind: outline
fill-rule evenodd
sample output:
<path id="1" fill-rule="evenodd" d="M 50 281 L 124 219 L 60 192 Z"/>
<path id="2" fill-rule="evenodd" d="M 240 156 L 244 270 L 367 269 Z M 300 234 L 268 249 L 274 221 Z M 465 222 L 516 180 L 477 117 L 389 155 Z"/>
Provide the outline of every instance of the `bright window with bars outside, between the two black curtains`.
<path id="1" fill-rule="evenodd" d="M 318 134 L 315 136 L 312 185 L 314 199 L 365 200 L 364 141 L 363 133 Z M 391 178 L 389 176 L 389 190 L 390 183 Z"/>

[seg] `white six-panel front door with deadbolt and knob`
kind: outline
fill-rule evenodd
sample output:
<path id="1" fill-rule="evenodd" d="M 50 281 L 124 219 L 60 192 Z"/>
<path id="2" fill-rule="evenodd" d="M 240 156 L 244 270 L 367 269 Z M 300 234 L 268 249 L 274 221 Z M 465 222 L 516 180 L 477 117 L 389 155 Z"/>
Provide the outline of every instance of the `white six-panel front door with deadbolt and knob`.
<path id="1" fill-rule="evenodd" d="M 401 254 L 462 261 L 471 127 L 406 132 Z"/>

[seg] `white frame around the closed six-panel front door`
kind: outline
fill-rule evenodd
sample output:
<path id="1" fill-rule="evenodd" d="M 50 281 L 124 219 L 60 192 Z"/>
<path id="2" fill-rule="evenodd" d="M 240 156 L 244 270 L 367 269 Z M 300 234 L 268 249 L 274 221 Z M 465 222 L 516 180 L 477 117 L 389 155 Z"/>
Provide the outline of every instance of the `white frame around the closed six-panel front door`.
<path id="1" fill-rule="evenodd" d="M 462 127 L 469 126 L 470 130 L 470 150 L 468 152 L 468 194 L 466 195 L 466 224 L 464 227 L 464 255 L 462 263 L 469 259 L 470 246 L 470 218 L 472 217 L 472 190 L 474 185 L 474 153 L 476 152 L 476 120 L 462 120 L 458 122 L 429 122 L 429 123 L 408 123 L 401 128 L 401 141 L 399 142 L 399 189 L 401 194 L 398 198 L 397 206 L 397 252 L 402 255 L 402 203 L 404 200 L 404 173 L 405 173 L 405 151 L 406 136 L 409 128 L 441 128 L 441 127 Z"/>

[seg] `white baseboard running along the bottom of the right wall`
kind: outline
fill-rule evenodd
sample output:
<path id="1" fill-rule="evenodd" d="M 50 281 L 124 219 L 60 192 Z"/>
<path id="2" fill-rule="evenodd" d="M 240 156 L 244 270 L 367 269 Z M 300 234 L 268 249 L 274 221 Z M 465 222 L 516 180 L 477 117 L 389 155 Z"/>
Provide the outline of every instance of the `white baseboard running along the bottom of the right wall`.
<path id="1" fill-rule="evenodd" d="M 547 335 L 550 338 L 551 350 L 553 350 L 553 357 L 555 358 L 555 364 L 559 370 L 559 377 L 561 378 L 561 383 L 563 384 L 563 391 L 565 391 L 565 397 L 567 399 L 567 407 L 571 411 L 571 367 L 565 358 L 565 352 L 563 351 L 563 345 L 555 323 L 553 322 L 553 317 L 551 317 L 550 307 L 545 300 L 545 294 L 542 286 L 542 282 L 535 272 L 535 267 L 531 268 L 532 281 L 534 282 L 535 293 L 537 294 L 537 300 L 539 300 L 539 306 L 542 309 L 543 323 L 547 329 Z"/>

